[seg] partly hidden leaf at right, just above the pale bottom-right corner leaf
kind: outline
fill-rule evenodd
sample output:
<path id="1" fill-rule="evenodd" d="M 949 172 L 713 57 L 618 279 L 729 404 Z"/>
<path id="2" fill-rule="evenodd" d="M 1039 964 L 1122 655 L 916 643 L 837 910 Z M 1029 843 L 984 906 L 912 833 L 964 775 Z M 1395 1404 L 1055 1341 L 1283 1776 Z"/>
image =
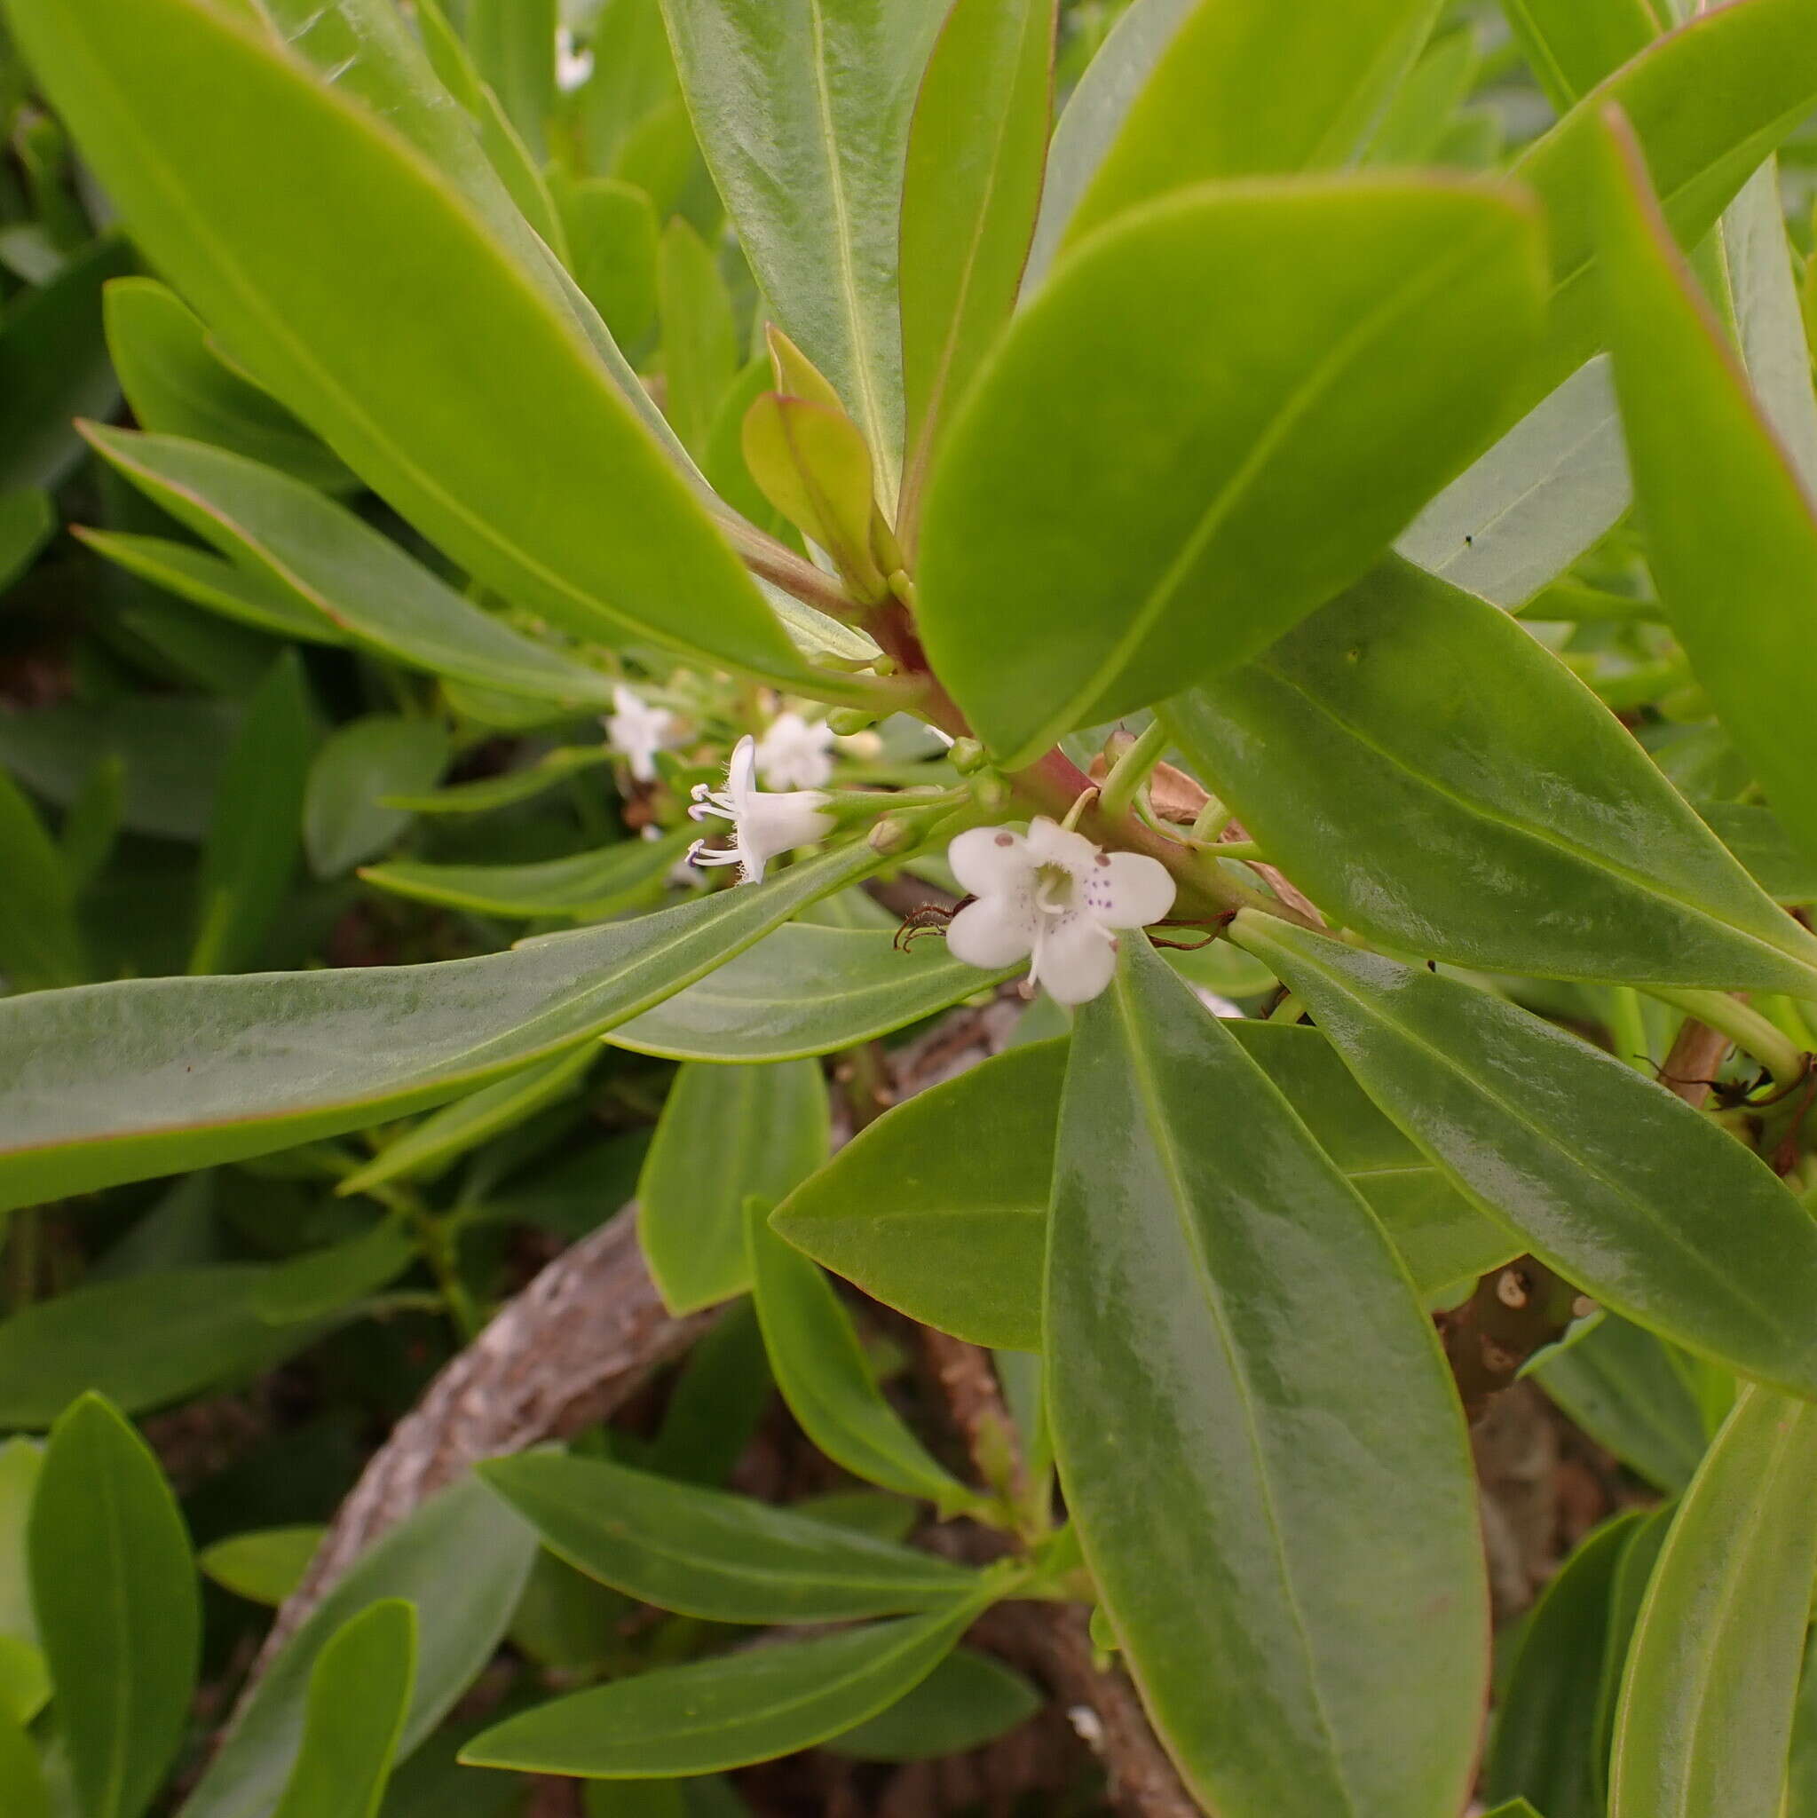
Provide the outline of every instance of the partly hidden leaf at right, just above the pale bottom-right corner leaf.
<path id="1" fill-rule="evenodd" d="M 1655 1489 L 1684 1489 L 1704 1454 L 1703 1411 L 1664 1342 L 1604 1314 L 1541 1358 L 1534 1382 Z"/>

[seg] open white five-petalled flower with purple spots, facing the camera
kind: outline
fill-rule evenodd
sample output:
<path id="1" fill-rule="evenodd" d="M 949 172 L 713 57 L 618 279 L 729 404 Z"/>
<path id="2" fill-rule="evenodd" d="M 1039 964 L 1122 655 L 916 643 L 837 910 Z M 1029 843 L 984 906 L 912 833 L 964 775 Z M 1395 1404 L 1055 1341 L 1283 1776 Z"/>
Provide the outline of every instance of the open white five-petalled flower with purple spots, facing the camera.
<path id="1" fill-rule="evenodd" d="M 1174 907 L 1174 880 L 1157 858 L 1105 853 L 1083 833 L 1036 820 L 1027 836 L 972 827 L 947 864 L 978 902 L 947 929 L 948 951 L 998 971 L 1028 960 L 1028 984 L 1056 1004 L 1087 1004 L 1116 971 L 1119 927 L 1147 927 Z"/>

